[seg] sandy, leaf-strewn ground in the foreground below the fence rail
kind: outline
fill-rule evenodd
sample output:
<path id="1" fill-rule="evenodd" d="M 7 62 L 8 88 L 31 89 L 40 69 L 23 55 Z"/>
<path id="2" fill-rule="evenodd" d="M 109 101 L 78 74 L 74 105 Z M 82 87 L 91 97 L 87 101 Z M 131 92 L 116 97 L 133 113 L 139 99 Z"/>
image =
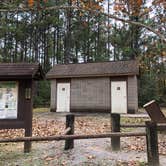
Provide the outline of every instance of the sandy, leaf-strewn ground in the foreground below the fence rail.
<path id="1" fill-rule="evenodd" d="M 9 145 L 8 145 L 9 146 Z M 12 146 L 12 145 L 10 145 Z M 91 139 L 75 141 L 75 148 L 64 151 L 64 142 L 33 143 L 30 154 L 22 153 L 22 145 L 2 155 L 2 166 L 111 166 L 111 165 L 145 165 L 145 152 L 121 150 L 112 152 L 110 139 Z M 166 165 L 166 156 L 160 156 L 161 166 Z"/>

